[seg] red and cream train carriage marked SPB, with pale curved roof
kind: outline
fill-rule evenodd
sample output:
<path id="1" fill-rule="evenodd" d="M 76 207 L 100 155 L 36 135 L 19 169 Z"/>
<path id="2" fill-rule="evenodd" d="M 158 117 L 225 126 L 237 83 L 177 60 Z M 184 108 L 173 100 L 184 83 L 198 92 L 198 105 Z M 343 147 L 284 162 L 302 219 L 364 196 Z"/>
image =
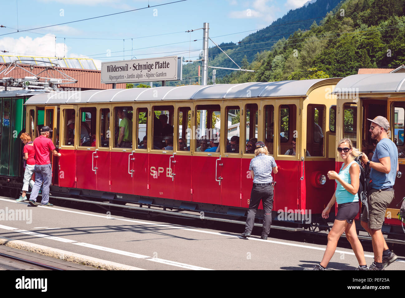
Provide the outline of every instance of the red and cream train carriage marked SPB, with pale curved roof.
<path id="1" fill-rule="evenodd" d="M 53 127 L 62 157 L 53 159 L 52 194 L 224 218 L 245 216 L 254 157 L 246 143 L 263 140 L 279 166 L 273 217 L 302 226 L 319 221 L 334 192 L 324 176 L 335 168 L 330 92 L 339 80 L 53 92 L 26 102 L 26 126 L 33 138 L 39 123 Z M 32 116 L 40 111 L 45 119 Z M 234 136 L 239 145 L 228 144 Z M 219 149 L 204 151 L 217 137 Z"/>

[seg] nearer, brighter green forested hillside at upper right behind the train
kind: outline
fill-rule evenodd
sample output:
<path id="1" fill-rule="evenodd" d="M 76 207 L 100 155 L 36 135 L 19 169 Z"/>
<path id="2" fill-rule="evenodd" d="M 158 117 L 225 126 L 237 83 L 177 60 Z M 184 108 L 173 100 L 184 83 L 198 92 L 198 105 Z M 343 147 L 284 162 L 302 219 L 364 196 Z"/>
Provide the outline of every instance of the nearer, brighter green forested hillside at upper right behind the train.
<path id="1" fill-rule="evenodd" d="M 359 68 L 405 63 L 405 0 L 346 0 L 310 30 L 298 30 L 270 50 L 256 51 L 218 83 L 345 77 Z M 232 56 L 231 56 L 232 57 Z"/>

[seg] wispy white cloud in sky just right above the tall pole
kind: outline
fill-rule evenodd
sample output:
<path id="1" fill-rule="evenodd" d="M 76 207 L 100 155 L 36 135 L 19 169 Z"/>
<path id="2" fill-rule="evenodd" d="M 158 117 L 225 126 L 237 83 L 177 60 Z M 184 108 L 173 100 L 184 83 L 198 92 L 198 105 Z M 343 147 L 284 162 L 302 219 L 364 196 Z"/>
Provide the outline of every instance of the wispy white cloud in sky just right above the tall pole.
<path id="1" fill-rule="evenodd" d="M 276 19 L 274 12 L 278 9 L 273 5 L 269 6 L 267 2 L 271 2 L 271 0 L 254 0 L 253 2 L 249 2 L 246 10 L 231 11 L 228 16 L 234 19 L 258 18 L 271 23 Z"/>

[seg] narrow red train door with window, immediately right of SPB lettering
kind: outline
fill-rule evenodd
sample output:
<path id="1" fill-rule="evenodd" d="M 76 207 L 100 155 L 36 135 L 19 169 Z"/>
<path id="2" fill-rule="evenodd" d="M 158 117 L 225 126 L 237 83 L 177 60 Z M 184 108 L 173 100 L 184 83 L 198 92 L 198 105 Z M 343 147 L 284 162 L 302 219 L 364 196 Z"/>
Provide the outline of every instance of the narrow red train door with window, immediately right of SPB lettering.
<path id="1" fill-rule="evenodd" d="M 191 145 L 191 124 L 192 124 L 192 103 L 181 103 L 175 106 L 175 153 L 170 163 L 173 170 L 172 180 L 174 187 L 174 199 L 191 201 L 191 180 L 192 180 L 192 156 Z M 170 171 L 170 170 L 169 170 Z"/>

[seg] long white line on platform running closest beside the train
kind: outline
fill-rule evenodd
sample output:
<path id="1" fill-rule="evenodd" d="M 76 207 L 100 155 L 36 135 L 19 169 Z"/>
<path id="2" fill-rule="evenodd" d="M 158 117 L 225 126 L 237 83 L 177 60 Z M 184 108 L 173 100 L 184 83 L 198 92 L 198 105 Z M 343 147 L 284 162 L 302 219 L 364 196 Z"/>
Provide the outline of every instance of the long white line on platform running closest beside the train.
<path id="1" fill-rule="evenodd" d="M 2 198 L 0 198 L 0 200 L 7 201 L 7 202 L 15 202 L 15 200 L 11 200 L 11 199 L 2 199 Z M 15 202 L 15 203 L 21 203 L 21 202 Z M 58 211 L 63 211 L 63 212 L 83 214 L 83 215 L 89 215 L 89 216 L 94 216 L 94 217 L 102 217 L 102 218 L 106 218 L 106 219 L 115 219 L 115 220 L 119 220 L 119 221 L 129 221 L 131 223 L 139 223 L 139 224 L 142 224 L 142 225 L 156 225 L 156 226 L 159 226 L 159 227 L 170 227 L 170 228 L 173 228 L 173 229 L 183 229 L 183 230 L 190 231 L 190 232 L 199 232 L 199 233 L 205 233 L 205 234 L 211 234 L 211 235 L 219 235 L 219 236 L 228 236 L 228 237 L 232 237 L 232 238 L 240 238 L 239 235 L 198 230 L 198 229 L 193 229 L 193 228 L 182 226 L 182 225 L 174 226 L 174 225 L 166 225 L 166 224 L 159 224 L 159 223 L 149 223 L 149 222 L 145 222 L 145 221 L 135 221 L 135 220 L 132 220 L 132 219 L 122 219 L 122 218 L 111 217 L 111 216 L 106 216 L 106 215 L 98 215 L 98 214 L 91 214 L 91 213 L 86 213 L 86 212 L 59 209 L 59 208 L 55 208 L 55 207 L 47 207 L 47 206 L 41 206 L 41 207 L 42 208 L 50 208 L 52 210 L 58 210 Z M 264 241 L 264 242 L 270 242 L 270 243 L 281 244 L 281 245 L 302 247 L 302 248 L 307 248 L 307 249 L 315 249 L 315 250 L 318 250 L 318 251 L 325 251 L 326 250 L 326 247 L 325 248 L 313 247 L 313 246 L 309 246 L 309 245 L 281 242 L 281 241 L 275 241 L 275 240 L 263 240 L 263 239 L 259 239 L 259 238 L 249 238 L 249 240 Z M 354 253 L 350 252 L 350 251 L 336 250 L 335 252 L 336 253 L 345 253 L 347 255 L 354 255 Z M 364 255 L 364 257 L 374 258 L 374 255 Z M 405 262 L 405 261 L 397 261 L 397 262 Z"/>

